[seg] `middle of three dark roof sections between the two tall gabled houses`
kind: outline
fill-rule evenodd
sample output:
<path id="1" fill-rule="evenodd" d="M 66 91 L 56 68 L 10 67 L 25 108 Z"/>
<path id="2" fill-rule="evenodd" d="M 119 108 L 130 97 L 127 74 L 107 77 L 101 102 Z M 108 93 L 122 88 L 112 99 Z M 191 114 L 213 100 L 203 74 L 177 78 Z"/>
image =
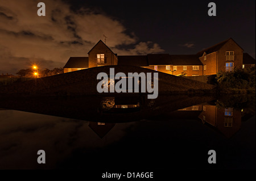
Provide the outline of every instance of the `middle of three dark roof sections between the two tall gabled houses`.
<path id="1" fill-rule="evenodd" d="M 148 65 L 172 65 L 170 54 L 148 54 Z"/>

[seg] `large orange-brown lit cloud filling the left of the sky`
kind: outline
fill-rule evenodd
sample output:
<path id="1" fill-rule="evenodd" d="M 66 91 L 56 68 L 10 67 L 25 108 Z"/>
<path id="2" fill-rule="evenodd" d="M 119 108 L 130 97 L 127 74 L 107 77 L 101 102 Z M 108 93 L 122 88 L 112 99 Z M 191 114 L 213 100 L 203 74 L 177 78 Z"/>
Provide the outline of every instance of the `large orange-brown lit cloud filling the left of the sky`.
<path id="1" fill-rule="evenodd" d="M 103 35 L 119 55 L 160 53 L 156 43 L 139 42 L 121 22 L 81 7 L 72 11 L 60 0 L 44 1 L 46 16 L 38 16 L 38 1 L 0 1 L 0 73 L 26 69 L 31 62 L 42 68 L 63 67 L 71 56 L 88 56 Z M 120 48 L 132 45 L 133 48 Z"/>

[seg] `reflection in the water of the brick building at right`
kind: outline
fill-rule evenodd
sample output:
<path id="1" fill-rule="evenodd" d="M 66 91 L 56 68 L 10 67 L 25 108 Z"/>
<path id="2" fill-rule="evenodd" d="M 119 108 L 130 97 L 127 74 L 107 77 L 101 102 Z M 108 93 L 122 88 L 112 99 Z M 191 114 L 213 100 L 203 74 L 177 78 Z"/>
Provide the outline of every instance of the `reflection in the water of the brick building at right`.
<path id="1" fill-rule="evenodd" d="M 198 112 L 196 115 L 204 124 L 209 124 L 224 134 L 225 137 L 231 137 L 241 127 L 241 110 L 233 108 L 217 108 L 215 105 L 203 104 L 183 108 L 179 111 Z M 185 112 L 183 113 L 186 114 Z"/>

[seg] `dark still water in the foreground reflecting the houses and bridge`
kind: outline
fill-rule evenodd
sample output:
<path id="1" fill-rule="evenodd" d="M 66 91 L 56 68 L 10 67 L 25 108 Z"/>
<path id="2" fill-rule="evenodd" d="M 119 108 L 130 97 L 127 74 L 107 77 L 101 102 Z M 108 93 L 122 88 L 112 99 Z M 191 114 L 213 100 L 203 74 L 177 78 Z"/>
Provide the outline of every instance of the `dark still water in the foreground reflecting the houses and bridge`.
<path id="1" fill-rule="evenodd" d="M 255 169 L 254 103 L 255 95 L 2 99 L 0 169 Z"/>

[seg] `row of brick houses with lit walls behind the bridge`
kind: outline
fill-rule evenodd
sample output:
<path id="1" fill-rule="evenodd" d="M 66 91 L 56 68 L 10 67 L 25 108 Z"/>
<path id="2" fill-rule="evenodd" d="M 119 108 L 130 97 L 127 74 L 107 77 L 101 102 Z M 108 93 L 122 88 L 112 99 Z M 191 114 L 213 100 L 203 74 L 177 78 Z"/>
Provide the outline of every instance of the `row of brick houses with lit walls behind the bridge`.
<path id="1" fill-rule="evenodd" d="M 214 75 L 218 71 L 255 66 L 255 59 L 232 38 L 196 54 L 147 54 L 118 56 L 103 41 L 88 52 L 88 57 L 70 57 L 64 73 L 105 65 L 131 65 L 172 75 Z"/>

